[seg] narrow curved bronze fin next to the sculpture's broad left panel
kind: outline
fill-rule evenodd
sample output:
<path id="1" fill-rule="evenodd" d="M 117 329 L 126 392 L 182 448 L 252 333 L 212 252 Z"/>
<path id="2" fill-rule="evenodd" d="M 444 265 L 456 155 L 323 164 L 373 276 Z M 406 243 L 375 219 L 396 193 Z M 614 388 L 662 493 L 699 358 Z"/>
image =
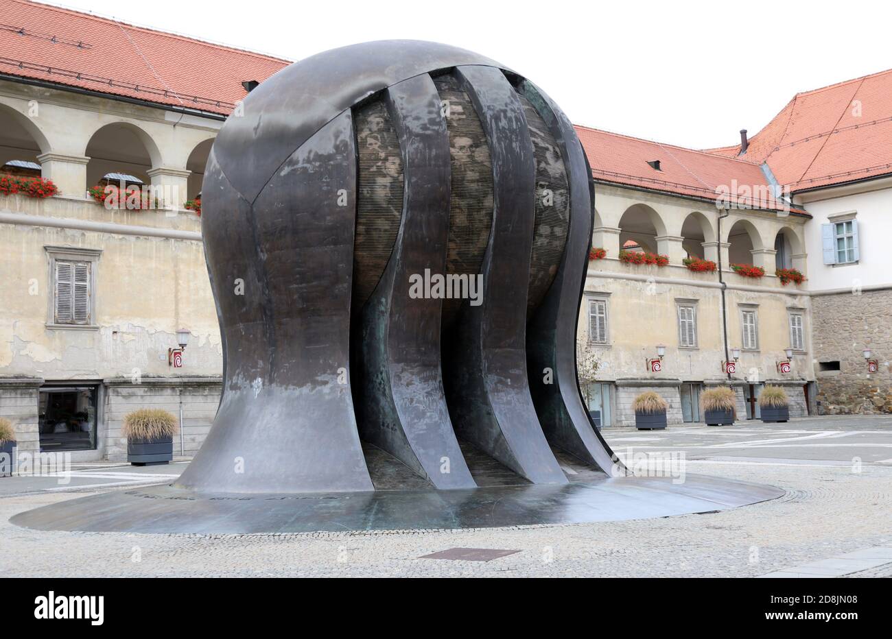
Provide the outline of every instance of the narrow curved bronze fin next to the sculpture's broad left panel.
<path id="1" fill-rule="evenodd" d="M 443 391 L 442 298 L 425 295 L 424 286 L 446 266 L 446 122 L 427 75 L 391 86 L 386 103 L 402 151 L 403 211 L 393 254 L 360 319 L 360 430 L 434 487 L 473 488 Z"/>

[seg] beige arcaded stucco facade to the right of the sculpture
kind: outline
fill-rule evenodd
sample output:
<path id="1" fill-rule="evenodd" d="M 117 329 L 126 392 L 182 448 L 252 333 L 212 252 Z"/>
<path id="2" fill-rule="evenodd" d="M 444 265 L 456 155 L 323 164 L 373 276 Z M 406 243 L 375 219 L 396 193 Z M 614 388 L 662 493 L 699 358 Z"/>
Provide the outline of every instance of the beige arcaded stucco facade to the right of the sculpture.
<path id="1" fill-rule="evenodd" d="M 620 249 L 620 227 L 624 212 L 632 207 L 650 211 L 656 234 L 652 239 L 645 237 L 660 253 L 670 258 L 669 266 L 636 266 L 620 262 L 617 258 Z M 615 424 L 631 424 L 628 401 L 632 388 L 639 392 L 645 389 L 644 381 L 662 383 L 655 386 L 673 406 L 670 422 L 680 420 L 677 410 L 678 384 L 682 381 L 706 382 L 706 384 L 726 381 L 722 372 L 725 360 L 723 340 L 722 291 L 717 273 L 694 273 L 681 265 L 685 257 L 685 247 L 690 239 L 685 238 L 682 226 L 685 220 L 694 215 L 702 225 L 706 246 L 705 257 L 716 261 L 722 250 L 723 279 L 726 288 L 728 347 L 742 348 L 740 306 L 756 308 L 758 315 L 758 348 L 741 351 L 736 383 L 744 381 L 762 383 L 777 381 L 784 383 L 790 394 L 795 394 L 794 402 L 804 412 L 801 386 L 806 381 L 814 381 L 811 344 L 811 298 L 807 282 L 790 283 L 782 286 L 774 276 L 774 253 L 766 247 L 774 245 L 774 238 L 781 229 L 794 234 L 797 266 L 805 270 L 805 254 L 802 251 L 804 217 L 778 216 L 766 211 L 732 211 L 722 222 L 721 246 L 715 240 L 719 236 L 718 211 L 706 202 L 687 201 L 668 195 L 645 193 L 634 189 L 599 184 L 596 187 L 596 222 L 592 245 L 607 249 L 607 258 L 589 263 L 580 311 L 578 337 L 586 348 L 599 357 L 599 381 L 615 382 L 619 392 L 615 394 Z M 756 236 L 753 238 L 756 250 L 763 252 L 752 256 L 755 264 L 763 261 L 766 275 L 761 279 L 744 278 L 728 268 L 728 231 L 739 220 Z M 608 344 L 592 344 L 588 340 L 589 316 L 587 299 L 607 299 Z M 696 300 L 697 308 L 697 348 L 681 347 L 678 336 L 677 305 L 679 301 L 690 303 Z M 778 373 L 777 363 L 786 359 L 784 349 L 790 345 L 789 313 L 800 312 L 805 319 L 805 350 L 793 356 L 791 373 Z M 663 370 L 651 373 L 648 359 L 657 356 L 657 344 L 665 345 Z M 673 386 L 674 384 L 674 386 Z M 649 388 L 649 387 L 648 387 Z M 796 414 L 796 411 L 794 412 Z"/>

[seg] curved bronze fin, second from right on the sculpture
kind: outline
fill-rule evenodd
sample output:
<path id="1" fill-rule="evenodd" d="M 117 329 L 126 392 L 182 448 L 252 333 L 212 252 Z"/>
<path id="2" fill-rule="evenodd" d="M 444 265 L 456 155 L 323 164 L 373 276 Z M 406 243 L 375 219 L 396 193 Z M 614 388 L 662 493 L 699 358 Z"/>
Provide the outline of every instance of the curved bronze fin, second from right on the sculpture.
<path id="1" fill-rule="evenodd" d="M 450 414 L 460 437 L 522 477 L 566 483 L 542 434 L 526 377 L 533 143 L 521 103 L 500 70 L 460 66 L 455 73 L 489 140 L 494 212 L 483 258 L 482 299 L 461 308 L 443 351 Z"/>

